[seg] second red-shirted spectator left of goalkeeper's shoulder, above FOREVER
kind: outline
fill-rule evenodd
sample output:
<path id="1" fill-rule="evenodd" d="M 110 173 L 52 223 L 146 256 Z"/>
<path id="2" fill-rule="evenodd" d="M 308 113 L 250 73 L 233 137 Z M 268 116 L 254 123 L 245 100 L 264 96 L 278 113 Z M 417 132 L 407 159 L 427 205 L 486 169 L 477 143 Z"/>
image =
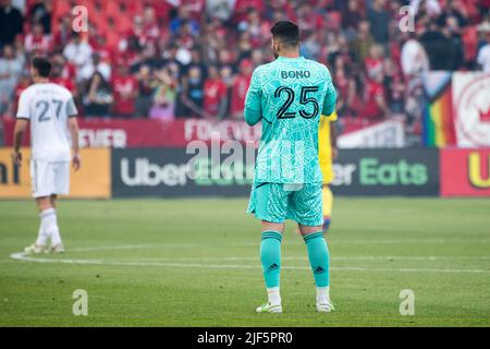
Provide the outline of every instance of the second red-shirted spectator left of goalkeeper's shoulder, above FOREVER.
<path id="1" fill-rule="evenodd" d="M 226 108 L 228 88 L 216 65 L 208 68 L 208 79 L 204 85 L 205 116 L 212 119 L 222 119 Z"/>

